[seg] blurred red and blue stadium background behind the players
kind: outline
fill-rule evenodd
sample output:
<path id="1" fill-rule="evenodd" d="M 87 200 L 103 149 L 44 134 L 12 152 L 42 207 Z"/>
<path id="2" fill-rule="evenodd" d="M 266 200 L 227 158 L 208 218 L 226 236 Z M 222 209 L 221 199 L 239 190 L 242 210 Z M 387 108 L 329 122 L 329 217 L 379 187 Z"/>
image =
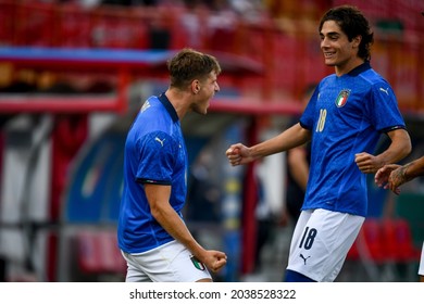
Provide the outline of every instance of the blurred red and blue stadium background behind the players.
<path id="1" fill-rule="evenodd" d="M 413 140 L 406 162 L 421 156 L 423 0 L 0 0 L 0 281 L 124 279 L 115 225 L 125 135 L 145 98 L 166 89 L 165 61 L 184 47 L 216 55 L 224 69 L 210 113 L 183 122 L 187 223 L 228 254 L 215 280 L 280 281 L 292 229 L 283 220 L 285 154 L 232 168 L 224 151 L 300 113 L 304 88 L 333 72 L 319 20 L 346 2 L 372 22 L 372 65 L 392 85 Z M 260 264 L 258 178 L 277 218 Z M 423 179 L 395 198 L 370 177 L 369 197 L 338 280 L 416 281 Z"/>

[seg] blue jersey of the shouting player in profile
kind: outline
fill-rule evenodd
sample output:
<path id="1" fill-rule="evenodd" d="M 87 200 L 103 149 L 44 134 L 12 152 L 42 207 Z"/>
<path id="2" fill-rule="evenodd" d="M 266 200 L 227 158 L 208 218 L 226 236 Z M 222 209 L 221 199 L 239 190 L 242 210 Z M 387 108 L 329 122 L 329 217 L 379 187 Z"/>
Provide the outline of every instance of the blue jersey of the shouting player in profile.
<path id="1" fill-rule="evenodd" d="M 119 245 L 124 252 L 141 253 L 173 240 L 151 215 L 144 183 L 170 185 L 170 204 L 182 216 L 187 166 L 186 145 L 173 105 L 164 93 L 150 97 L 125 143 L 124 189 L 117 225 Z"/>

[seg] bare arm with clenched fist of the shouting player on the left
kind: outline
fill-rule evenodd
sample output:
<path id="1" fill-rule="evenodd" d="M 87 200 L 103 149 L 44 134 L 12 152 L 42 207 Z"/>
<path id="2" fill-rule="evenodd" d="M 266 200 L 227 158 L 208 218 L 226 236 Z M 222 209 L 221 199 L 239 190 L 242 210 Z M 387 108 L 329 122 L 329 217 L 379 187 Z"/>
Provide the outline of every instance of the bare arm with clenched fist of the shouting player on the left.
<path id="1" fill-rule="evenodd" d="M 213 271 L 226 264 L 226 255 L 220 251 L 204 250 L 191 236 L 185 223 L 171 206 L 171 186 L 145 183 L 145 191 L 152 216 L 177 241 L 184 244 L 200 262 Z"/>

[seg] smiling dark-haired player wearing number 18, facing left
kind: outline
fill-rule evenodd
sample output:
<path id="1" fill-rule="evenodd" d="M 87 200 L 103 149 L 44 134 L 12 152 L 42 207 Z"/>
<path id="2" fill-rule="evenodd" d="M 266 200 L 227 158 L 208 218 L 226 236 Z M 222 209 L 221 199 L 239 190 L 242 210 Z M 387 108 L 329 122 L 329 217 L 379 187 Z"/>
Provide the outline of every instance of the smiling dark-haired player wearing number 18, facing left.
<path id="1" fill-rule="evenodd" d="M 334 281 L 367 211 L 366 174 L 411 152 L 411 140 L 390 85 L 371 67 L 373 33 L 354 7 L 328 10 L 319 26 L 323 78 L 298 124 L 252 147 L 233 144 L 241 165 L 311 141 L 310 174 L 302 212 L 290 244 L 286 281 Z M 391 143 L 373 155 L 382 134 Z"/>

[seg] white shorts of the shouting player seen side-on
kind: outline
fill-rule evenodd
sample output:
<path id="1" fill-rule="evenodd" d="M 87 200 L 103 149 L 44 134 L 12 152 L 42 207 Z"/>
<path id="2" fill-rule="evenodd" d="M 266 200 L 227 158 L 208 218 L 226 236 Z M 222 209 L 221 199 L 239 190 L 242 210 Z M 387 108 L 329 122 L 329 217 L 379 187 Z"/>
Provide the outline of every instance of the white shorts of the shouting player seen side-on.
<path id="1" fill-rule="evenodd" d="M 126 282 L 195 282 L 211 279 L 208 268 L 179 242 L 139 254 L 122 252 L 128 266 Z"/>

